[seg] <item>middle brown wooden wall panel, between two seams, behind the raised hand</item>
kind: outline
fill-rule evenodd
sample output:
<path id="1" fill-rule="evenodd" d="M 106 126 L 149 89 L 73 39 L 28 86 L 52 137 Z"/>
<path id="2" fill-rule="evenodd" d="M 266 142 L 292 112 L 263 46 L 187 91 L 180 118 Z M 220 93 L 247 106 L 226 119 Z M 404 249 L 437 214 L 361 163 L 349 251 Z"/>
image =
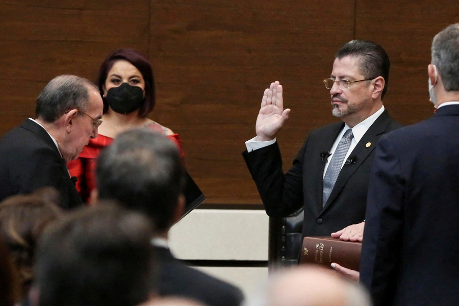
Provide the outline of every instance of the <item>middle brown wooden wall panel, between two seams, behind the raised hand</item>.
<path id="1" fill-rule="evenodd" d="M 151 2 L 152 117 L 181 135 L 207 203 L 261 203 L 241 152 L 272 81 L 292 109 L 278 137 L 286 169 L 307 132 L 334 120 L 322 80 L 353 37 L 353 11 L 353 1 Z"/>

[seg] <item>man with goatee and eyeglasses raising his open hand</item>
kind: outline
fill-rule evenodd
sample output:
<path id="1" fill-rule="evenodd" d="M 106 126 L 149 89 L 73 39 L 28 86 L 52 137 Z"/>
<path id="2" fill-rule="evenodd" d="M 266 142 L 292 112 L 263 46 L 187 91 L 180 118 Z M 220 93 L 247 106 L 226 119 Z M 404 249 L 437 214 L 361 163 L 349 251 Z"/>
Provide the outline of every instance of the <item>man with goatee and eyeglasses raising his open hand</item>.
<path id="1" fill-rule="evenodd" d="M 246 142 L 243 157 L 269 216 L 287 217 L 304 208 L 302 237 L 362 241 L 374 148 L 379 137 L 401 127 L 382 105 L 389 67 L 388 55 L 374 42 L 352 40 L 338 50 L 323 82 L 331 113 L 343 122 L 312 131 L 285 174 L 275 136 L 290 109 L 284 109 L 279 82 L 265 90 L 257 136 Z M 334 267 L 358 278 L 358 272 Z"/>

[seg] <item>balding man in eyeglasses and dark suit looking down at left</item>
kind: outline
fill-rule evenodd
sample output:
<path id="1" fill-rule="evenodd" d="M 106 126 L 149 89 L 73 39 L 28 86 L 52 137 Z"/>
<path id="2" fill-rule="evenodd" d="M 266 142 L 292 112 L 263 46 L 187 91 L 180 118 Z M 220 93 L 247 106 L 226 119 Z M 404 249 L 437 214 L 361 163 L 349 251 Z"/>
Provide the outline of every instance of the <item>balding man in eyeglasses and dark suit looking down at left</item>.
<path id="1" fill-rule="evenodd" d="M 36 119 L 29 118 L 0 140 L 0 200 L 55 187 L 61 206 L 83 204 L 66 162 L 97 137 L 103 102 L 98 88 L 75 75 L 60 75 L 39 94 Z"/>

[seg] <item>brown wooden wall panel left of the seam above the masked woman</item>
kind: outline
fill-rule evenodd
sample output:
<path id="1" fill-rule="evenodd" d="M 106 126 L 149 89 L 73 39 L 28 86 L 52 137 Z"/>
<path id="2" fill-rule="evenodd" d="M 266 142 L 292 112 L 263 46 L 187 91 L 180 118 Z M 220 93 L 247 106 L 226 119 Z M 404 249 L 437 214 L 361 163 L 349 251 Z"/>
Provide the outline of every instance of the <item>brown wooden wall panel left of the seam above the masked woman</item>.
<path id="1" fill-rule="evenodd" d="M 0 1 L 0 135 L 34 116 L 35 100 L 59 74 L 94 80 L 119 47 L 147 54 L 149 1 Z"/>

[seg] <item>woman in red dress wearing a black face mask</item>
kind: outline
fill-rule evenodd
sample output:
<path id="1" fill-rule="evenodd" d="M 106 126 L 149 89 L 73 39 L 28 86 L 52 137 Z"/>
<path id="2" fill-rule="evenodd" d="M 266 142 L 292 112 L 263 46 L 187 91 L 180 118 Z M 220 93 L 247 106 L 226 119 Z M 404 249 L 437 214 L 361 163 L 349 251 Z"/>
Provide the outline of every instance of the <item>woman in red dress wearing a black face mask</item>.
<path id="1" fill-rule="evenodd" d="M 104 101 L 101 118 L 104 124 L 98 127 L 98 137 L 90 139 L 79 158 L 68 164 L 70 175 L 78 179 L 76 187 L 85 202 L 95 188 L 95 162 L 100 149 L 111 144 L 123 131 L 145 127 L 164 134 L 177 143 L 183 156 L 179 135 L 147 118 L 155 107 L 155 83 L 151 65 L 143 55 L 132 49 L 112 52 L 100 66 L 96 85 Z M 191 181 L 187 188 L 191 183 L 193 185 L 193 190 L 188 190 L 192 195 L 187 197 L 187 206 L 193 205 L 194 208 L 198 205 L 195 201 L 202 202 L 203 195 L 191 177 L 187 176 Z"/>

